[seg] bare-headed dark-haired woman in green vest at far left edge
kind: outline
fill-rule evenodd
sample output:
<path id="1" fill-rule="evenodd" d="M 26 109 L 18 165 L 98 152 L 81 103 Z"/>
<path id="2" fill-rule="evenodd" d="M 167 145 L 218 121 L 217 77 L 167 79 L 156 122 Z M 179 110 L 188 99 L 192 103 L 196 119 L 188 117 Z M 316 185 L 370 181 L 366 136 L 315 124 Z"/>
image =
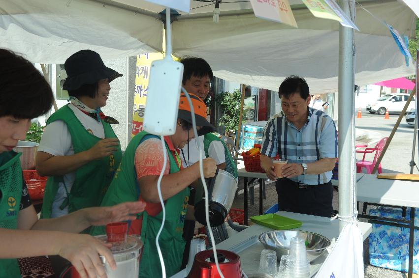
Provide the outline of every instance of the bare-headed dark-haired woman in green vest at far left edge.
<path id="1" fill-rule="evenodd" d="M 50 86 L 32 63 L 0 49 L 0 278 L 21 277 L 16 258 L 60 255 L 83 274 L 104 277 L 101 254 L 116 266 L 107 246 L 86 234 L 90 225 L 133 219 L 144 210 L 142 202 L 82 209 L 67 216 L 38 220 L 19 157 L 12 149 L 25 140 L 31 119 L 51 109 Z"/>

